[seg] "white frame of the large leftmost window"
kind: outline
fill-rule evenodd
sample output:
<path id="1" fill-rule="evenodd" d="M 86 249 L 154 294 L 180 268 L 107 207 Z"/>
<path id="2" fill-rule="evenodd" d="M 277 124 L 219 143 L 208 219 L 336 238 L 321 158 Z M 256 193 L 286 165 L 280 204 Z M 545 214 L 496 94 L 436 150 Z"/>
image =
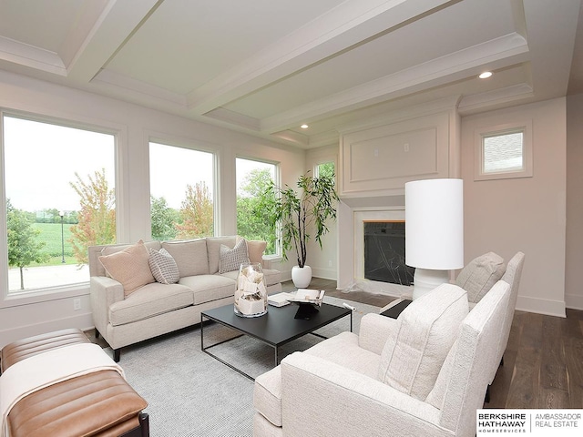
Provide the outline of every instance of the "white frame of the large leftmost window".
<path id="1" fill-rule="evenodd" d="M 127 168 L 128 147 L 128 128 L 124 125 L 117 125 L 115 123 L 106 123 L 103 120 L 90 120 L 87 118 L 79 118 L 72 114 L 60 114 L 58 116 L 48 115 L 43 113 L 32 113 L 24 110 L 18 110 L 8 107 L 0 107 L 0 168 L 2 168 L 2 176 L 0 177 L 0 195 L 3 202 L 6 201 L 5 190 L 5 135 L 4 122 L 5 117 L 21 118 L 24 120 L 46 123 L 56 125 L 59 127 L 70 127 L 74 129 L 89 130 L 101 134 L 111 135 L 114 139 L 114 180 L 116 188 L 116 239 L 119 241 L 125 237 L 128 232 L 128 227 L 124 226 L 128 219 L 128 214 L 125 212 L 125 205 L 128 203 L 126 194 L 128 192 L 128 178 L 123 176 L 123 171 L 120 168 Z M 62 300 L 77 296 L 87 295 L 89 289 L 89 279 L 83 282 L 73 284 L 55 285 L 48 287 L 40 287 L 30 290 L 22 290 L 11 293 L 8 285 L 8 246 L 7 246 L 7 216 L 6 208 L 0 208 L 0 272 L 3 278 L 0 279 L 0 309 L 28 305 L 32 303 L 46 302 L 50 300 Z"/>

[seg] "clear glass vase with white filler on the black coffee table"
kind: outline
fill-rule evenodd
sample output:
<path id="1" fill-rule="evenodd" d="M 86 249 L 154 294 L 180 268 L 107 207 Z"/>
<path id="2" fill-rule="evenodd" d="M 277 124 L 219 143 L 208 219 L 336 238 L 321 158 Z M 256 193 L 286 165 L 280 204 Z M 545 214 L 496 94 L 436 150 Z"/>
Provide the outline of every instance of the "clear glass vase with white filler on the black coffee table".
<path id="1" fill-rule="evenodd" d="M 259 262 L 240 265 L 235 290 L 235 314 L 259 317 L 267 313 L 267 287 Z"/>

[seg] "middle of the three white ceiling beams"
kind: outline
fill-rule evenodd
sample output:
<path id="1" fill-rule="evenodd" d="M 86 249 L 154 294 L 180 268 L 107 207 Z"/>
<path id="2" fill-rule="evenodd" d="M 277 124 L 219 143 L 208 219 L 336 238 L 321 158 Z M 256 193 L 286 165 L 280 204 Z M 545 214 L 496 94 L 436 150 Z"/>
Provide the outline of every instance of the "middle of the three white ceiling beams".
<path id="1" fill-rule="evenodd" d="M 201 115 L 459 0 L 351 0 L 189 93 Z"/>

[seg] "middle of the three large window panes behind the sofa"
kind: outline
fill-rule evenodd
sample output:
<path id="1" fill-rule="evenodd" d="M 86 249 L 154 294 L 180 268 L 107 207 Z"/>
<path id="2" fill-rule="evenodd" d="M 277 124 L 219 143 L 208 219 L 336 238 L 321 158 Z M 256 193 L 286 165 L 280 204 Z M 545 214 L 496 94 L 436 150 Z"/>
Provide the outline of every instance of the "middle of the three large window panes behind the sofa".
<path id="1" fill-rule="evenodd" d="M 214 234 L 214 155 L 149 143 L 152 239 Z"/>

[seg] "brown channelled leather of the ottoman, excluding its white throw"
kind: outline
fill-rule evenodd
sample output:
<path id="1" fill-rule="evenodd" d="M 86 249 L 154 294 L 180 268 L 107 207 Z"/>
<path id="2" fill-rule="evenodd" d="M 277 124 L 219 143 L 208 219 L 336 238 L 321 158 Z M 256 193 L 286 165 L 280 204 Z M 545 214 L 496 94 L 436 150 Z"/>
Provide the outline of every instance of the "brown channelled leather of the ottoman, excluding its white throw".
<path id="1" fill-rule="evenodd" d="M 8 344 L 2 370 L 26 357 L 88 342 L 81 330 L 59 330 Z M 105 352 L 104 352 L 105 353 Z M 118 371 L 96 371 L 58 382 L 18 401 L 8 414 L 11 437 L 149 435 L 148 402 Z"/>

